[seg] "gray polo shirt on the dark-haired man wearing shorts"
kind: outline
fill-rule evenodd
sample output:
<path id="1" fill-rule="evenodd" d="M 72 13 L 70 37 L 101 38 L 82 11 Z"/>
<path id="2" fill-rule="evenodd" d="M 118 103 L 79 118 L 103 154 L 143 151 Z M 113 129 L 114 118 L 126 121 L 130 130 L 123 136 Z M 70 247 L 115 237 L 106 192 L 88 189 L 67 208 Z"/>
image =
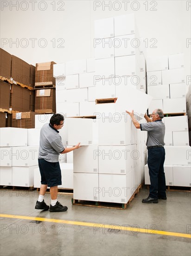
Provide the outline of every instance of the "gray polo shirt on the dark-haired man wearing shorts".
<path id="1" fill-rule="evenodd" d="M 40 130 L 38 158 L 48 162 L 58 162 L 59 154 L 64 150 L 61 136 L 57 129 L 46 123 Z"/>

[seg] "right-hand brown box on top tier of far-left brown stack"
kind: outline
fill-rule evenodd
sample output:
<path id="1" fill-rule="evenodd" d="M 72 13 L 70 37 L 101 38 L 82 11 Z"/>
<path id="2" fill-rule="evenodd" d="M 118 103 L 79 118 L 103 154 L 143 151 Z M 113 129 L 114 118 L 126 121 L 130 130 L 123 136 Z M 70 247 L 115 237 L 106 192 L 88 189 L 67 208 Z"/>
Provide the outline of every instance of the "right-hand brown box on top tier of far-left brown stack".
<path id="1" fill-rule="evenodd" d="M 16 82 L 30 86 L 30 65 L 12 55 L 11 77 Z"/>

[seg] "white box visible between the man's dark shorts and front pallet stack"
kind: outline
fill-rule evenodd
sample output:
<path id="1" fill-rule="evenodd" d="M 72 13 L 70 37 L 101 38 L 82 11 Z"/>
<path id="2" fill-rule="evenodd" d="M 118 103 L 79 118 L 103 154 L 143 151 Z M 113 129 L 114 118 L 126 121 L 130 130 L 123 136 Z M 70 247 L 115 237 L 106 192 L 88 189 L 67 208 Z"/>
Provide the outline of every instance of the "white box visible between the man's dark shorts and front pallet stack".
<path id="1" fill-rule="evenodd" d="M 62 175 L 62 185 L 58 188 L 63 189 L 73 189 L 73 164 L 72 163 L 61 163 L 60 164 L 61 175 Z"/>

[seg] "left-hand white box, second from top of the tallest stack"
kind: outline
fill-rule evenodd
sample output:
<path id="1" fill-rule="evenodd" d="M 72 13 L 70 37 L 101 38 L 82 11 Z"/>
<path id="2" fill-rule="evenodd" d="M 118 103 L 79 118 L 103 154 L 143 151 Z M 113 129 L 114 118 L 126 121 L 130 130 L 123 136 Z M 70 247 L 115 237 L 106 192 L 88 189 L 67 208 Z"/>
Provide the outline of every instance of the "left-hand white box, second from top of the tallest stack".
<path id="1" fill-rule="evenodd" d="M 114 57 L 114 37 L 94 39 L 95 59 Z"/>

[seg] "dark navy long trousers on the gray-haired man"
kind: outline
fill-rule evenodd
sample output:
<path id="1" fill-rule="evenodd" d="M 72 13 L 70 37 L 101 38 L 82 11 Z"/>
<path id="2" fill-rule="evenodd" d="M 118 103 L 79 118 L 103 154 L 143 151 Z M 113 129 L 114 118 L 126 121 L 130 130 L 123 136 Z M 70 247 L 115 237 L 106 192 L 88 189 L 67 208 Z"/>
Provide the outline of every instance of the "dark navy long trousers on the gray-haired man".
<path id="1" fill-rule="evenodd" d="M 166 180 L 164 173 L 165 148 L 148 149 L 148 168 L 151 186 L 149 196 L 152 198 L 166 197 Z"/>

